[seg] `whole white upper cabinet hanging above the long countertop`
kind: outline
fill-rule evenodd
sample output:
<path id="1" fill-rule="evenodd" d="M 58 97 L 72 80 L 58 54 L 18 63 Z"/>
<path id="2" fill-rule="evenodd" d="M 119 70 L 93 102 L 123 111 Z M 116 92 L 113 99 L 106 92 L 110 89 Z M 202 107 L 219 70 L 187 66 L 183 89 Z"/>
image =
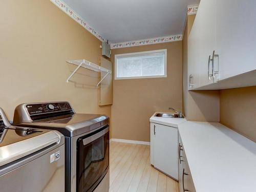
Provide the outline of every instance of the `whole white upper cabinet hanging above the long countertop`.
<path id="1" fill-rule="evenodd" d="M 201 0 L 188 37 L 189 90 L 256 85 L 255 10 L 255 0 Z"/>

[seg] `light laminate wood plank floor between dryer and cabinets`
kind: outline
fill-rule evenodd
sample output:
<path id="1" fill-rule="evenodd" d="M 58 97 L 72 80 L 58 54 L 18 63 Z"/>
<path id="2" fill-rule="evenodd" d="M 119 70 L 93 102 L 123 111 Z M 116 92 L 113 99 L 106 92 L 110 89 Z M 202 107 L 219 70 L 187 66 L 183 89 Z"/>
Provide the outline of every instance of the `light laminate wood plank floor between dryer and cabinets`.
<path id="1" fill-rule="evenodd" d="M 150 146 L 110 143 L 110 192 L 179 192 L 178 182 L 150 164 Z"/>

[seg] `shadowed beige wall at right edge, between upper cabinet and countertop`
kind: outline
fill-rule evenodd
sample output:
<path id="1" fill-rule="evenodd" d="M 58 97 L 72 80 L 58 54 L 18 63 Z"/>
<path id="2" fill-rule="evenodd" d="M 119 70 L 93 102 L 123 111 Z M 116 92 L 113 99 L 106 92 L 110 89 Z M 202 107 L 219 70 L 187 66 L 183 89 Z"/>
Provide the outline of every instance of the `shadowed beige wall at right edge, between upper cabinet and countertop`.
<path id="1" fill-rule="evenodd" d="M 220 122 L 256 142 L 256 86 L 221 90 Z"/>

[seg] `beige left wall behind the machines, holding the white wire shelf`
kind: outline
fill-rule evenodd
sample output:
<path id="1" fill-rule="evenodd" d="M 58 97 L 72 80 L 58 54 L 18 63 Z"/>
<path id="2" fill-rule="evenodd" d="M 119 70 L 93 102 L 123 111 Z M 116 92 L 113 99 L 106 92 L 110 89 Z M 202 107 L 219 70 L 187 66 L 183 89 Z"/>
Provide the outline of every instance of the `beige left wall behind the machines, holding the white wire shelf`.
<path id="1" fill-rule="evenodd" d="M 23 102 L 70 101 L 76 112 L 111 116 L 98 106 L 98 74 L 74 70 L 70 59 L 98 63 L 101 42 L 48 1 L 1 1 L 0 106 L 10 119 Z"/>

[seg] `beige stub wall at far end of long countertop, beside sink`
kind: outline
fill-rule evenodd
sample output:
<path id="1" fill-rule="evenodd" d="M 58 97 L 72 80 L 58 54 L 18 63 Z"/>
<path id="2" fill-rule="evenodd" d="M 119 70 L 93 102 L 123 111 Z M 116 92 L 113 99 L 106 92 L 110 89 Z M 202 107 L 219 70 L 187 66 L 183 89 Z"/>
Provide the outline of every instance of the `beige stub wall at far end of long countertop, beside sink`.
<path id="1" fill-rule="evenodd" d="M 219 91 L 187 91 L 187 39 L 196 15 L 188 15 L 182 40 L 183 112 L 190 121 L 219 122 Z"/>

